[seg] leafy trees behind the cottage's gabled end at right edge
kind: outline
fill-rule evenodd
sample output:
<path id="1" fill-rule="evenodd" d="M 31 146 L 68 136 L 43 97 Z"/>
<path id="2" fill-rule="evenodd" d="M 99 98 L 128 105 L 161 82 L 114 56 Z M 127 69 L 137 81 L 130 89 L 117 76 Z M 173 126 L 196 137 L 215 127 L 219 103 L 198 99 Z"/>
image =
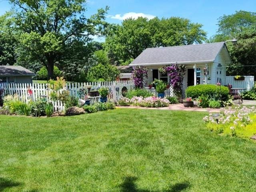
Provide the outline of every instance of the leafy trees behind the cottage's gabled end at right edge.
<path id="1" fill-rule="evenodd" d="M 232 38 L 238 40 L 237 45 L 226 44 L 233 61 L 232 64 L 226 65 L 227 75 L 256 75 L 256 12 L 240 10 L 231 15 L 224 15 L 218 20 L 218 32 L 208 42 L 224 42 Z"/>

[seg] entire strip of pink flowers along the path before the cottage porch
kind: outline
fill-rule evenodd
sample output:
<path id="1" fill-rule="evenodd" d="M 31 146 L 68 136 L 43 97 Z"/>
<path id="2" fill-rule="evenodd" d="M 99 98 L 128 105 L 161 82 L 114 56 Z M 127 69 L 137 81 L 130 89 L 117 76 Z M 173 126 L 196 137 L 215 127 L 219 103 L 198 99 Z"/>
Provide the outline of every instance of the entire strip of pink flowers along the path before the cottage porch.
<path id="1" fill-rule="evenodd" d="M 118 102 L 120 106 L 128 106 L 128 105 L 135 105 L 140 107 L 167 107 L 170 104 L 168 99 L 163 99 L 159 97 L 132 97 L 132 99 L 128 99 L 123 97 Z"/>

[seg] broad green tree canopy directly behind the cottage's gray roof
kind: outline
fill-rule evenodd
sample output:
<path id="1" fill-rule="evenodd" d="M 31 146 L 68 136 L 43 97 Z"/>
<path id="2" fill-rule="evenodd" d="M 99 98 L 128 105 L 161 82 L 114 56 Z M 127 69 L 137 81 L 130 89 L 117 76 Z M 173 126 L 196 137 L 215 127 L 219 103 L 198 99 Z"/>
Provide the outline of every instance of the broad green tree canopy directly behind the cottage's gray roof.
<path id="1" fill-rule="evenodd" d="M 146 48 L 202 43 L 206 36 L 201 24 L 179 17 L 130 18 L 111 27 L 105 49 L 111 63 L 118 64 L 135 59 Z"/>

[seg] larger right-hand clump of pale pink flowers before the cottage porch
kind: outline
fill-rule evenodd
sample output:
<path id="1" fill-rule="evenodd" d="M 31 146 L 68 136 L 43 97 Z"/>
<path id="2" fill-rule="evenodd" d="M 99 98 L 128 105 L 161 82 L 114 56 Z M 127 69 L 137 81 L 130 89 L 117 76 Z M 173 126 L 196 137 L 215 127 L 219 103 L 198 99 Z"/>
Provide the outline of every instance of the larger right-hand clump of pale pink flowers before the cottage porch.
<path id="1" fill-rule="evenodd" d="M 170 104 L 168 99 L 163 99 L 159 97 L 132 97 L 130 102 L 133 105 L 140 106 L 140 107 L 167 107 Z"/>

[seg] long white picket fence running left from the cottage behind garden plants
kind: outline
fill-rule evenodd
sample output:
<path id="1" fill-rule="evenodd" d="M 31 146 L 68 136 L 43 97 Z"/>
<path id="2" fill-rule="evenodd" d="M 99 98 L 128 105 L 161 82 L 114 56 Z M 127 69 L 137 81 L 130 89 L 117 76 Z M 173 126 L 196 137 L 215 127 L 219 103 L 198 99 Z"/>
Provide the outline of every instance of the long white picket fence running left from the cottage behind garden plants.
<path id="1" fill-rule="evenodd" d="M 45 83 L 0 83 L 0 87 L 4 88 L 5 95 L 17 94 L 21 101 L 28 103 L 30 100 L 36 101 L 38 99 L 46 98 L 48 101 L 50 90 L 48 84 Z M 32 90 L 32 96 L 28 96 L 28 87 Z M 77 97 L 80 89 L 86 89 L 88 87 L 98 89 L 101 87 L 108 87 L 110 94 L 108 99 L 110 101 L 118 101 L 122 95 L 122 88 L 132 90 L 134 89 L 133 81 L 105 81 L 105 82 L 88 82 L 88 83 L 66 83 L 65 89 L 69 91 L 70 95 Z M 63 104 L 61 102 L 54 103 L 54 109 L 62 110 Z"/>

